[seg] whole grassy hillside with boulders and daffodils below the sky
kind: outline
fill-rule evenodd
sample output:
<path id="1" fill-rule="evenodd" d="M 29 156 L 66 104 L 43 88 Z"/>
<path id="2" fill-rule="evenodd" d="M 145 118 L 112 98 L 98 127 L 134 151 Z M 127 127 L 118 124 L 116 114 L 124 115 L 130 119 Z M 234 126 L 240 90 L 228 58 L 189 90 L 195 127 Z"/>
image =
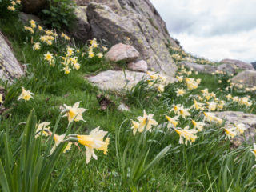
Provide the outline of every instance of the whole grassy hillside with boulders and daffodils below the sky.
<path id="1" fill-rule="evenodd" d="M 186 53 L 149 0 L 41 2 L 0 5 L 1 191 L 256 191 L 252 66 Z"/>

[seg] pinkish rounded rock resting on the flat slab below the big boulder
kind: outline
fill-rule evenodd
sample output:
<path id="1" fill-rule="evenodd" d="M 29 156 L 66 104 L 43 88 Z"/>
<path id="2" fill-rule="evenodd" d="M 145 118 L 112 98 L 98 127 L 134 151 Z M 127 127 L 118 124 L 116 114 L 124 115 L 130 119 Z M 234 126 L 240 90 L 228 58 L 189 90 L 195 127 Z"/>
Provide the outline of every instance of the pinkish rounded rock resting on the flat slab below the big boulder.
<path id="1" fill-rule="evenodd" d="M 111 62 L 132 62 L 136 60 L 138 56 L 138 50 L 133 46 L 118 43 L 111 47 L 111 49 L 106 53 L 105 58 Z"/>

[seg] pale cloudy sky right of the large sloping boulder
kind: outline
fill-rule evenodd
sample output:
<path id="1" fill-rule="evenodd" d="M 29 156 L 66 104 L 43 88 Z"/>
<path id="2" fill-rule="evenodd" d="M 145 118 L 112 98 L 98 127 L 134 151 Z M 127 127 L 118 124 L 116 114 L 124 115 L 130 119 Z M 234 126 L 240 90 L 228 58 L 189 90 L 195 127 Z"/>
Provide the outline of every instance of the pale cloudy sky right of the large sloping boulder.
<path id="1" fill-rule="evenodd" d="M 186 52 L 256 62 L 256 0 L 150 0 Z"/>

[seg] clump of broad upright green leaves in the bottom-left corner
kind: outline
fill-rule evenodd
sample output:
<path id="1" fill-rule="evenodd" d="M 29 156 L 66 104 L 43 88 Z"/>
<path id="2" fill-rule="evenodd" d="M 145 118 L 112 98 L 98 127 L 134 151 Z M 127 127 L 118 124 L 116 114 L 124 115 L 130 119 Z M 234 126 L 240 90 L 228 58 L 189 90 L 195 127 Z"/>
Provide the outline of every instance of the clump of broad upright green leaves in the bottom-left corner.
<path id="1" fill-rule="evenodd" d="M 59 116 L 54 132 L 58 128 Z M 54 134 L 46 142 L 45 149 L 41 137 L 35 138 L 37 118 L 34 110 L 31 110 L 26 121 L 25 129 L 13 144 L 10 142 L 9 130 L 0 134 L 4 143 L 4 152 L 0 160 L 0 184 L 4 192 L 8 191 L 54 191 L 62 178 L 62 172 L 56 178 L 52 178 L 54 166 L 65 149 L 65 144 L 60 144 L 54 153 L 49 156 L 50 146 Z M 15 146 L 14 150 L 11 146 Z"/>

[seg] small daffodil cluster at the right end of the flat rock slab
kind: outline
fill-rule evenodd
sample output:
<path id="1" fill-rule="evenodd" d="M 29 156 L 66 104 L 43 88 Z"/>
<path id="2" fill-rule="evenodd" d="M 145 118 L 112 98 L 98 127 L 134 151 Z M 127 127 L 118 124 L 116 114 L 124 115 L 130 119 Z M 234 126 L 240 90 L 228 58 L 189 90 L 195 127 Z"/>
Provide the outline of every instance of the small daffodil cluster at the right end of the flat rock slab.
<path id="1" fill-rule="evenodd" d="M 161 95 L 162 92 L 165 91 L 165 85 L 166 85 L 166 77 L 162 76 L 160 74 L 153 74 L 150 71 L 147 71 L 146 74 L 149 75 L 149 78 L 147 80 L 149 86 L 157 86 L 158 95 Z"/>

